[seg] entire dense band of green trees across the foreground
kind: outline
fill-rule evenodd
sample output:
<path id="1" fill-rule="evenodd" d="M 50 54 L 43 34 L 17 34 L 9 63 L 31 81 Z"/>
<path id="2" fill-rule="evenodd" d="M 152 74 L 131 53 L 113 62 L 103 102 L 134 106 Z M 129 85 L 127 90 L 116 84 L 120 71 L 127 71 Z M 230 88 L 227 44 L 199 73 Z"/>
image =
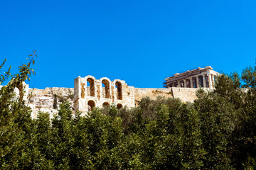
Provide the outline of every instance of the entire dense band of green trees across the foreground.
<path id="1" fill-rule="evenodd" d="M 142 98 L 82 117 L 63 101 L 52 120 L 32 120 L 14 93 L 31 64 L 33 56 L 0 76 L 1 84 L 11 77 L 0 91 L 0 169 L 256 169 L 256 67 L 220 75 L 194 103 Z"/>

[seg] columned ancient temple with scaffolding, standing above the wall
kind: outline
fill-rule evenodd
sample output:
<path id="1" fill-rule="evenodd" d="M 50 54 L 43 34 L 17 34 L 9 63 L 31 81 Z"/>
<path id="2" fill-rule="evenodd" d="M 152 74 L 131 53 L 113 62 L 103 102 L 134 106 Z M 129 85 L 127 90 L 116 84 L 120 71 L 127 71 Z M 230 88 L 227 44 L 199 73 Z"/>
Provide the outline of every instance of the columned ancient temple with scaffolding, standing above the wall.
<path id="1" fill-rule="evenodd" d="M 183 73 L 176 73 L 173 77 L 167 77 L 164 87 L 184 87 L 184 88 L 213 88 L 215 76 L 218 75 L 212 67 L 188 70 Z"/>

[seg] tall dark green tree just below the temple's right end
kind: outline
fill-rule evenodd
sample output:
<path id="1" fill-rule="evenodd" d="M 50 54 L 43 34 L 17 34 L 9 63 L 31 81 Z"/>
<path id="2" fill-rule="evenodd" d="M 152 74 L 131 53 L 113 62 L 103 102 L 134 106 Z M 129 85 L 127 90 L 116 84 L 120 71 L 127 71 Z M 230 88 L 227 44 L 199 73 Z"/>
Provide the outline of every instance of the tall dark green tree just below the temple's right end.
<path id="1" fill-rule="evenodd" d="M 195 101 L 200 119 L 201 140 L 207 154 L 203 160 L 206 169 L 233 169 L 228 145 L 239 113 L 240 89 L 232 78 L 217 77 L 213 91 L 198 91 Z"/>

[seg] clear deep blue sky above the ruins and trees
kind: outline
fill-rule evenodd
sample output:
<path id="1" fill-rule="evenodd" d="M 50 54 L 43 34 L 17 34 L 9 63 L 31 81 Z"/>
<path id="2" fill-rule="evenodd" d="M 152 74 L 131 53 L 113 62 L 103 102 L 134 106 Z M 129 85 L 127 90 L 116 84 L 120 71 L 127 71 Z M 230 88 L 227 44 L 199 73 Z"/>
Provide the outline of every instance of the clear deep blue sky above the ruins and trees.
<path id="1" fill-rule="evenodd" d="M 37 89 L 87 75 L 161 88 L 208 65 L 241 73 L 255 65 L 255 9 L 255 0 L 0 0 L 0 60 L 14 73 L 37 50 L 28 82 Z"/>

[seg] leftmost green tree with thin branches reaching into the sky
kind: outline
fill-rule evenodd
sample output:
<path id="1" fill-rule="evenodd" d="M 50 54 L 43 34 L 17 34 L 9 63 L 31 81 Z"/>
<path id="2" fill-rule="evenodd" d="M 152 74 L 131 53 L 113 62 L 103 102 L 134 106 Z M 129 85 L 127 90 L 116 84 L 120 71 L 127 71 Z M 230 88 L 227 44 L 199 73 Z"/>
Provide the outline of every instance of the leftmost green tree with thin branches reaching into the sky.
<path id="1" fill-rule="evenodd" d="M 26 169 L 33 162 L 33 137 L 31 137 L 31 110 L 22 100 L 23 89 L 19 97 L 14 93 L 16 87 L 21 87 L 23 81 L 29 80 L 34 74 L 31 64 L 36 52 L 27 64 L 18 67 L 17 74 L 11 74 L 11 67 L 5 74 L 1 74 L 0 82 L 11 81 L 0 90 L 0 169 Z M 1 64 L 0 70 L 4 68 Z"/>

